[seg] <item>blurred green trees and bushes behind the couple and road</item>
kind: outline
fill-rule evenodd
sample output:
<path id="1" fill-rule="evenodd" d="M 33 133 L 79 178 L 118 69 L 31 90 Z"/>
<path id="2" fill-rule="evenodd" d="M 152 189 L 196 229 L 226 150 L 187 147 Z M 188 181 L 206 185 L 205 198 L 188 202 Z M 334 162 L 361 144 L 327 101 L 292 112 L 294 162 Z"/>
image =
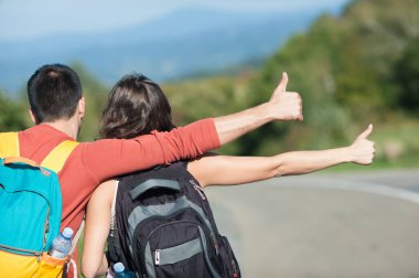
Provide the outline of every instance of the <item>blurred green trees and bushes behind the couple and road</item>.
<path id="1" fill-rule="evenodd" d="M 416 0 L 355 0 L 337 18 L 320 17 L 258 68 L 162 87 L 172 103 L 175 122 L 182 126 L 268 100 L 286 71 L 288 90 L 302 95 L 304 121 L 269 124 L 221 152 L 275 154 L 332 148 L 351 143 L 374 122 L 374 167 L 419 165 L 418 14 Z M 73 66 L 82 77 L 88 107 L 80 140 L 93 140 L 109 88 L 82 65 Z M 0 130 L 28 126 L 22 105 L 3 94 L 0 100 Z"/>

